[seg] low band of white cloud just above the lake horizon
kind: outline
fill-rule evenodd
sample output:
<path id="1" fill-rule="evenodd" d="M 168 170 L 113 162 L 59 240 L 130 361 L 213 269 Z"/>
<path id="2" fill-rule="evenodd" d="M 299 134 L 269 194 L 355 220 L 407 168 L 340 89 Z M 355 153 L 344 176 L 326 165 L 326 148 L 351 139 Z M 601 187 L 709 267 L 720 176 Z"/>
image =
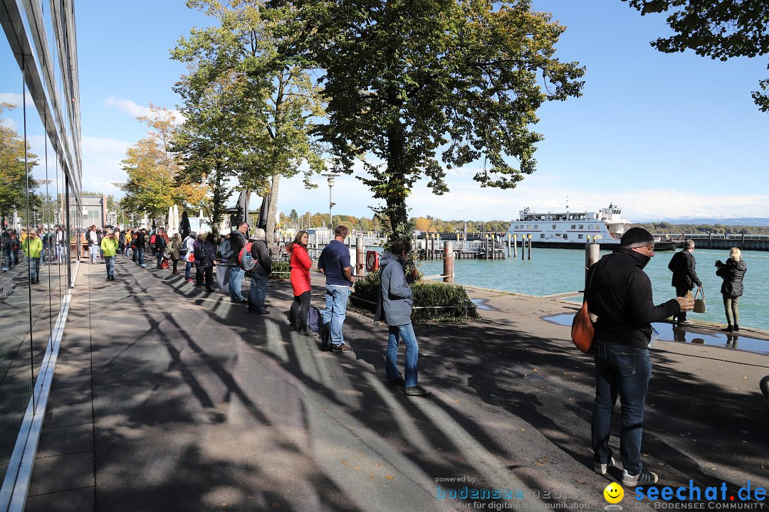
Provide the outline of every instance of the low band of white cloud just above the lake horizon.
<path id="1" fill-rule="evenodd" d="M 435 216 L 443 220 L 513 220 L 519 210 L 530 206 L 538 211 L 562 211 L 568 197 L 571 211 L 598 211 L 609 203 L 622 207 L 623 216 L 634 219 L 701 216 L 767 216 L 769 195 L 690 193 L 687 190 L 622 187 L 615 192 L 591 190 L 589 183 L 581 190 L 566 187 L 558 177 L 545 173 L 532 174 L 513 190 L 481 188 L 471 180 L 474 169 L 465 169 L 460 176 L 447 180 L 450 193 L 435 196 L 424 181 L 416 183 L 407 200 L 409 216 Z M 300 177 L 281 182 L 278 209 L 288 213 L 328 212 L 328 185 L 325 178 L 315 180 L 318 188 L 305 190 Z M 377 203 L 371 191 L 360 180 L 342 176 L 335 180 L 333 190 L 335 213 L 371 216 L 368 206 Z"/>

